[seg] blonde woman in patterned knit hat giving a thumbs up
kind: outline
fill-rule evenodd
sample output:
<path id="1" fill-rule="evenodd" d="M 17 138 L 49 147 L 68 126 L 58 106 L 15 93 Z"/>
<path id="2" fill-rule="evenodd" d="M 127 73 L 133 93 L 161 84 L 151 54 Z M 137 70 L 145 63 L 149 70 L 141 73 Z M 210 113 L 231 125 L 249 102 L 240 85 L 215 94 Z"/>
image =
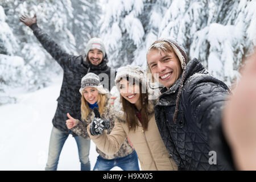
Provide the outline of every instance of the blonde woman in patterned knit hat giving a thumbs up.
<path id="1" fill-rule="evenodd" d="M 100 78 L 94 73 L 86 74 L 81 80 L 80 93 L 81 97 L 81 119 L 72 118 L 68 115 L 66 125 L 68 129 L 71 129 L 77 135 L 88 138 L 89 135 L 86 131 L 86 127 L 89 123 L 92 123 L 94 127 L 94 134 L 100 134 L 104 130 L 110 133 L 114 127 L 114 123 L 117 120 L 115 117 L 114 106 L 110 105 L 111 99 L 109 91 L 104 89 L 100 84 Z M 97 171 L 109 171 L 115 166 L 120 167 L 123 170 L 139 171 L 138 157 L 134 149 L 130 146 L 127 138 L 121 144 L 119 150 L 112 155 L 107 155 L 104 152 L 96 148 L 98 154 L 97 162 L 93 170 Z"/>

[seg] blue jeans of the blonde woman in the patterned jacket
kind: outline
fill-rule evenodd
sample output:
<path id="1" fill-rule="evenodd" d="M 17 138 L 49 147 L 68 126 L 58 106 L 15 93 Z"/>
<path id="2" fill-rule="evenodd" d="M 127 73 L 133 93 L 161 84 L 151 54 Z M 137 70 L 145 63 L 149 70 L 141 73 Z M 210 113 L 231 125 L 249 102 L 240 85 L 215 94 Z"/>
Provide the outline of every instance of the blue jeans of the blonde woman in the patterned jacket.
<path id="1" fill-rule="evenodd" d="M 125 157 L 110 160 L 104 159 L 99 155 L 93 171 L 110 171 L 115 166 L 123 169 L 123 171 L 139 171 L 137 153 L 133 151 L 133 153 Z"/>

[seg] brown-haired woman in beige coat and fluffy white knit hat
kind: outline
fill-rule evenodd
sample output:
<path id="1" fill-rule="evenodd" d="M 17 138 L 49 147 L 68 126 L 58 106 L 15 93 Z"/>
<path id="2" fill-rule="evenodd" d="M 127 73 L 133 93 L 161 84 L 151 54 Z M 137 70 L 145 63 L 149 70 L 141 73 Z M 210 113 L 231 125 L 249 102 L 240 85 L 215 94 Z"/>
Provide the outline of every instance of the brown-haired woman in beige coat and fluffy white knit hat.
<path id="1" fill-rule="evenodd" d="M 140 67 L 128 65 L 119 68 L 115 85 L 120 92 L 122 110 L 119 121 L 110 134 L 98 133 L 91 124 L 88 134 L 96 146 L 106 154 L 115 154 L 129 137 L 137 151 L 142 170 L 176 170 L 176 164 L 168 154 L 156 126 L 154 100 L 148 99 L 147 80 Z M 115 100 L 118 104 L 118 99 Z M 106 127 L 102 127 L 106 129 Z"/>

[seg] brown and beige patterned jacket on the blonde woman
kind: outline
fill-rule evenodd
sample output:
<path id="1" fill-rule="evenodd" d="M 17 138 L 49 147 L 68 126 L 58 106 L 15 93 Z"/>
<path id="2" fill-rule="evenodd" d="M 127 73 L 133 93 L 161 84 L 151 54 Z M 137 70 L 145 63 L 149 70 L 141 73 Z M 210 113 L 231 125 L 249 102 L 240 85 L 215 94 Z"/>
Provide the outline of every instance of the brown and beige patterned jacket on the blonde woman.
<path id="1" fill-rule="evenodd" d="M 117 108 L 114 107 L 114 105 L 111 105 L 110 102 L 110 95 L 107 95 L 106 97 L 106 104 L 105 104 L 105 109 L 103 113 L 101 114 L 101 119 L 109 119 L 110 121 L 110 128 L 107 130 L 107 134 L 110 134 L 115 122 L 119 122 L 119 119 L 117 115 L 123 115 L 123 111 L 117 110 Z M 119 102 L 121 105 L 121 103 Z M 90 124 L 90 122 L 93 121 L 94 118 L 94 113 L 93 110 L 90 109 L 90 113 L 88 117 L 86 118 L 86 121 L 79 121 L 75 127 L 73 127 L 71 130 L 76 133 L 77 135 L 83 137 L 83 138 L 90 138 L 88 131 L 87 131 L 87 126 Z M 124 156 L 130 155 L 134 149 L 130 146 L 127 138 L 125 141 L 122 143 L 122 146 L 119 148 L 119 151 L 113 155 L 106 155 L 104 152 L 100 151 L 98 147 L 96 147 L 96 151 L 102 158 L 104 159 L 114 159 L 114 158 L 122 158 Z"/>

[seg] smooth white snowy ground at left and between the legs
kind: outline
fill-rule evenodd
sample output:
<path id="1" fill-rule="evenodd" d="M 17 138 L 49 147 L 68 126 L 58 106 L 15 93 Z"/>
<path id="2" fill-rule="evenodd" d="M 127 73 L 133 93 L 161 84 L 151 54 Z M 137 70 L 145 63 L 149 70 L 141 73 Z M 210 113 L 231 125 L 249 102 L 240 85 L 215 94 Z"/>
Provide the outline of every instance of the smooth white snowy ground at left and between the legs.
<path id="1" fill-rule="evenodd" d="M 0 170 L 44 170 L 61 82 L 61 77 L 56 78 L 51 86 L 33 93 L 16 90 L 18 103 L 0 106 Z M 91 142 L 92 169 L 97 156 Z M 61 152 L 58 170 L 80 170 L 77 145 L 71 135 Z"/>

